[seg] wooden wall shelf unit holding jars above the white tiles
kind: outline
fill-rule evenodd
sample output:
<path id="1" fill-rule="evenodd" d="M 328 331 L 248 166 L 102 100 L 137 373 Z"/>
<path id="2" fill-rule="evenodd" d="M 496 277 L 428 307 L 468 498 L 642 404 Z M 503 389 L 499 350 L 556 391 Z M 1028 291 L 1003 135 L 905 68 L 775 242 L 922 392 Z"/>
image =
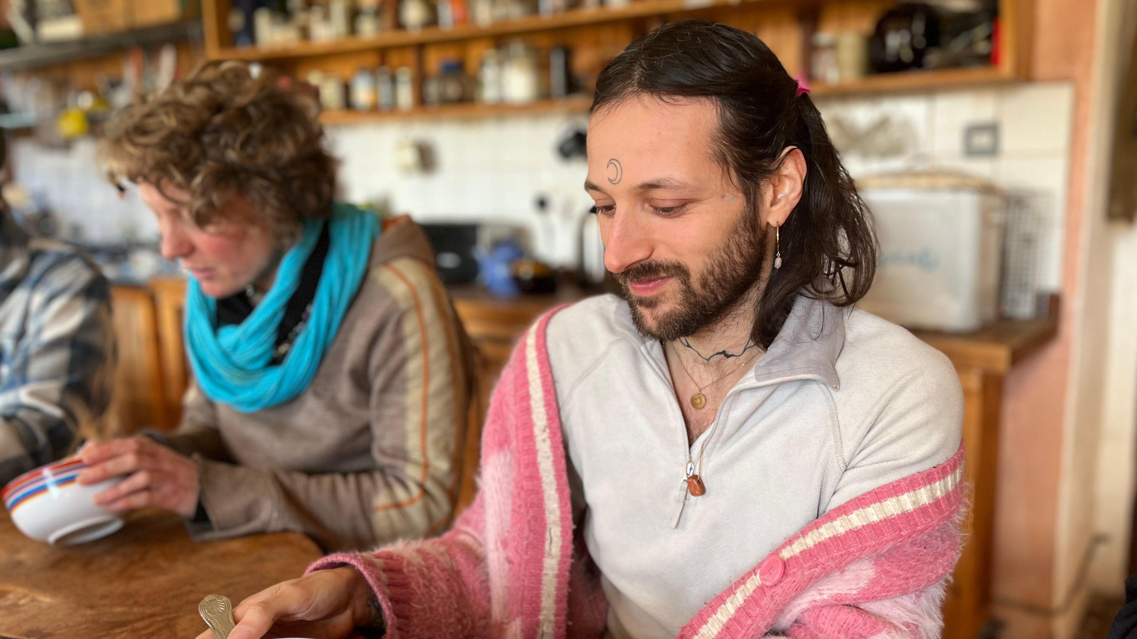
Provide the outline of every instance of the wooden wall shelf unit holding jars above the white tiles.
<path id="1" fill-rule="evenodd" d="M 382 0 L 390 15 L 399 0 Z M 528 15 L 490 24 L 387 28 L 374 35 L 349 35 L 327 41 L 300 40 L 256 47 L 235 47 L 230 27 L 233 0 L 202 0 L 206 55 L 210 59 L 255 61 L 293 77 L 310 72 L 350 81 L 360 68 L 407 67 L 414 74 L 415 103 L 401 110 L 326 110 L 325 124 L 420 117 L 484 117 L 534 111 L 586 111 L 604 66 L 629 43 L 663 24 L 682 18 L 721 22 L 757 34 L 778 55 L 790 75 L 811 65 L 813 34 L 857 32 L 870 35 L 880 15 L 899 0 L 629 0 L 568 2 L 581 5 L 548 15 Z M 998 0 L 998 35 L 993 64 L 987 66 L 871 74 L 838 83 L 813 80 L 821 94 L 879 93 L 944 86 L 968 86 L 1022 80 L 1028 76 L 1032 27 L 1030 0 Z M 424 105 L 423 78 L 438 73 L 442 60 L 457 60 L 467 77 L 476 75 L 485 51 L 520 40 L 539 50 L 572 50 L 571 73 L 580 92 L 524 105 L 459 102 Z"/>

